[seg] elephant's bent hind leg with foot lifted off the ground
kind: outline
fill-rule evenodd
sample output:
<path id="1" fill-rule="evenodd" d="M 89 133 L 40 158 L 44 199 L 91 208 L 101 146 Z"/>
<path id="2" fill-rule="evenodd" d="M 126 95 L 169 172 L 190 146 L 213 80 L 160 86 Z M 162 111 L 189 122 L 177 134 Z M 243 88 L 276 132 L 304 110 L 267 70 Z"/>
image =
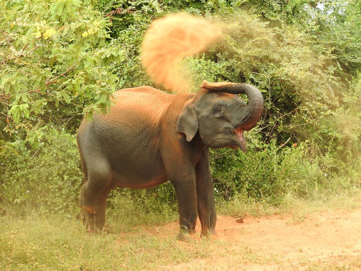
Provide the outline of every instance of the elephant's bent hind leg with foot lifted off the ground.
<path id="1" fill-rule="evenodd" d="M 80 189 L 79 206 L 82 212 L 97 214 L 100 210 L 98 196 L 109 186 L 112 172 L 105 160 L 93 162 L 87 169 L 88 180 Z"/>

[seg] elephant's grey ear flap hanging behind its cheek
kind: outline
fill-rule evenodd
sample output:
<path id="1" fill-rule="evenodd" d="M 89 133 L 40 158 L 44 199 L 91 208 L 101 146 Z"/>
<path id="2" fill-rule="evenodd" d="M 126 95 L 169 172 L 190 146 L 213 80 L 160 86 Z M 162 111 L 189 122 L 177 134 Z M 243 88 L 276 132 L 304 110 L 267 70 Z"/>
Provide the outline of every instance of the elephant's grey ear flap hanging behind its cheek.
<path id="1" fill-rule="evenodd" d="M 177 120 L 177 132 L 184 133 L 187 141 L 191 141 L 198 131 L 198 120 L 192 107 L 193 99 L 184 103 L 181 114 Z"/>

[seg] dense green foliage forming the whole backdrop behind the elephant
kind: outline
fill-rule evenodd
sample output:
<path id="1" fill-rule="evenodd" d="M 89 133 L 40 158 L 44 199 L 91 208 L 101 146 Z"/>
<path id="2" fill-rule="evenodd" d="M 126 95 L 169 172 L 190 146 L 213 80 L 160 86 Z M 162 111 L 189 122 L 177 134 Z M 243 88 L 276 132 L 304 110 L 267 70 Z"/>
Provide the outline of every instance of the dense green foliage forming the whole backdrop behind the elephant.
<path id="1" fill-rule="evenodd" d="M 219 23 L 224 33 L 183 61 L 191 91 L 204 79 L 248 82 L 265 98 L 246 154 L 212 150 L 218 202 L 280 203 L 360 187 L 359 1 L 26 0 L 1 9 L 3 202 L 77 210 L 80 120 L 106 113 L 119 88 L 152 85 L 140 63 L 143 35 L 152 20 L 178 11 Z M 124 202 L 168 213 L 174 189 L 117 190 L 109 205 Z"/>

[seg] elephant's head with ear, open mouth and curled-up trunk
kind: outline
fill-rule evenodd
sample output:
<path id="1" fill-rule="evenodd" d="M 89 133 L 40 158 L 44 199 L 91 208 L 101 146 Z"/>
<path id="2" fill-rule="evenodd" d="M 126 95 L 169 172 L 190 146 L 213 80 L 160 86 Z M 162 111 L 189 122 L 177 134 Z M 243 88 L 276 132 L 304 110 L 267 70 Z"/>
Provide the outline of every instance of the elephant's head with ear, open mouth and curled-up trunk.
<path id="1" fill-rule="evenodd" d="M 257 87 L 245 83 L 203 81 L 199 93 L 188 100 L 179 115 L 177 131 L 191 141 L 199 130 L 205 145 L 246 151 L 243 131 L 251 130 L 263 112 Z M 248 104 L 237 94 L 245 94 Z"/>

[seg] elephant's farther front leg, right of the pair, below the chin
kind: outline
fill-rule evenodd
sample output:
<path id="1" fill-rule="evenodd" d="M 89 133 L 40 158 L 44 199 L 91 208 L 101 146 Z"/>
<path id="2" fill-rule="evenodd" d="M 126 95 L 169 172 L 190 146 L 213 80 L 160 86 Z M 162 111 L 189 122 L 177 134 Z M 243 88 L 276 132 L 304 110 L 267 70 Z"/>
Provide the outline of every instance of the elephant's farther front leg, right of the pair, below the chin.
<path id="1" fill-rule="evenodd" d="M 196 165 L 197 208 L 202 225 L 201 236 L 216 234 L 216 205 L 214 204 L 213 180 L 209 168 L 209 150 L 203 150 Z"/>

